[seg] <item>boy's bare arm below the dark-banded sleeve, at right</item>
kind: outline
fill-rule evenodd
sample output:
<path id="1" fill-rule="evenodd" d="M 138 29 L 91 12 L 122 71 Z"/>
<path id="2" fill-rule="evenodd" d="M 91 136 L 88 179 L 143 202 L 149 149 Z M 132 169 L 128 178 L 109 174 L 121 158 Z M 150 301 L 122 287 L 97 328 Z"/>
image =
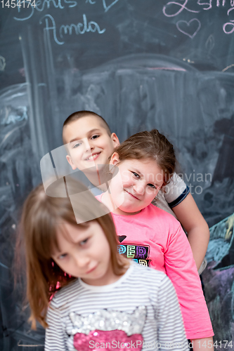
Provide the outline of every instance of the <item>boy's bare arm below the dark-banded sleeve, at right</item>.
<path id="1" fill-rule="evenodd" d="M 190 193 L 180 204 L 173 207 L 172 210 L 188 234 L 193 258 L 197 270 L 199 270 L 209 243 L 209 227 L 207 222 L 204 220 Z"/>

